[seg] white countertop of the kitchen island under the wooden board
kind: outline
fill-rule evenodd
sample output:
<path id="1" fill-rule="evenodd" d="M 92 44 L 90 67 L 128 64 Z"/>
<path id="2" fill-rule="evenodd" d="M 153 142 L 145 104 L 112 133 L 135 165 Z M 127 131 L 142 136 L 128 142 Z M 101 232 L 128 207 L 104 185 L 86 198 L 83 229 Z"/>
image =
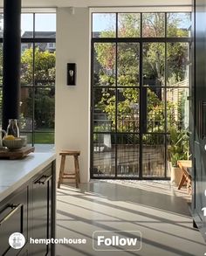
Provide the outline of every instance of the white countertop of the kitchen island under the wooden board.
<path id="1" fill-rule="evenodd" d="M 55 160 L 54 153 L 31 153 L 18 160 L 0 160 L 0 201 Z"/>

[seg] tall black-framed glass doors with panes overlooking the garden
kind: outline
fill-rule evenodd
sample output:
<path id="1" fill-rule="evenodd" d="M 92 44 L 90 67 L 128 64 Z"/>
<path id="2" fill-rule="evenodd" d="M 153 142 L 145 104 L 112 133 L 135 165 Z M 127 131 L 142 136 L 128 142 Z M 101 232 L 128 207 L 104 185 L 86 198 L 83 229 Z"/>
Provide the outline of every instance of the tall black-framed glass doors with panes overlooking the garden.
<path id="1" fill-rule="evenodd" d="M 158 37 L 144 34 L 148 14 L 130 14 L 140 26 L 125 37 L 127 14 L 111 15 L 113 30 L 92 39 L 91 177 L 168 178 L 170 128 L 189 122 L 190 40 L 165 36 L 167 13 Z"/>

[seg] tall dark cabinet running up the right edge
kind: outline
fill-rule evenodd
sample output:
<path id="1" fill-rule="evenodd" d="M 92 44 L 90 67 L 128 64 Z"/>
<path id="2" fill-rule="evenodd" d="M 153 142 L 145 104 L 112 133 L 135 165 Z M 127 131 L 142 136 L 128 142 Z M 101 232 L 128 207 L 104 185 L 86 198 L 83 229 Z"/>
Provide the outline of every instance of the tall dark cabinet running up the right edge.
<path id="1" fill-rule="evenodd" d="M 190 120 L 193 121 L 191 149 L 193 156 L 193 200 L 192 214 L 194 227 L 203 234 L 206 241 L 206 3 L 204 0 L 193 1 L 194 4 L 194 27 L 193 27 L 193 83 L 191 91 L 192 111 Z"/>

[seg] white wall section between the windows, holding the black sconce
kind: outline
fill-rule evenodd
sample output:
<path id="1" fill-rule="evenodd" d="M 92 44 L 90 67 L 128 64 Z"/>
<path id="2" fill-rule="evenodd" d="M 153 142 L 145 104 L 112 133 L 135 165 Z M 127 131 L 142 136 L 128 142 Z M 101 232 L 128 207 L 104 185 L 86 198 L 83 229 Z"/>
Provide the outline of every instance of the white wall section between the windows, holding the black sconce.
<path id="1" fill-rule="evenodd" d="M 57 9 L 56 149 L 79 149 L 81 181 L 89 180 L 89 10 Z M 76 86 L 66 85 L 66 64 L 77 65 Z M 59 159 L 57 162 L 59 170 Z"/>

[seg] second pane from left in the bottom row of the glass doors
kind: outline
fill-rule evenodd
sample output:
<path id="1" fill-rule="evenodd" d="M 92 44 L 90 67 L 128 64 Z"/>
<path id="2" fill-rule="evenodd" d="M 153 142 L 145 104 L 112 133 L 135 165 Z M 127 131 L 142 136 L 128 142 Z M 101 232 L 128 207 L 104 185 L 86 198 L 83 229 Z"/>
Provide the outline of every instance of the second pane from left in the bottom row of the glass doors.
<path id="1" fill-rule="evenodd" d="M 117 135 L 117 175 L 139 176 L 140 137 L 134 134 Z"/>

